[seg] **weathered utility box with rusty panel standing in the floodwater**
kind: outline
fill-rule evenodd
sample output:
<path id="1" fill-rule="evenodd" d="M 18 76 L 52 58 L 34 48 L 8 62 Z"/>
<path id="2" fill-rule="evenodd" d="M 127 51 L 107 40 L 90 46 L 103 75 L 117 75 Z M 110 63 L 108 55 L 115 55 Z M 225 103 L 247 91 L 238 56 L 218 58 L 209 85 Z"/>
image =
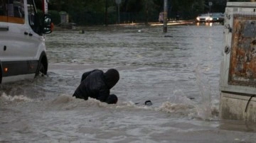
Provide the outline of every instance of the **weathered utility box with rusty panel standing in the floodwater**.
<path id="1" fill-rule="evenodd" d="M 256 122 L 256 3 L 228 2 L 224 26 L 220 118 Z"/>

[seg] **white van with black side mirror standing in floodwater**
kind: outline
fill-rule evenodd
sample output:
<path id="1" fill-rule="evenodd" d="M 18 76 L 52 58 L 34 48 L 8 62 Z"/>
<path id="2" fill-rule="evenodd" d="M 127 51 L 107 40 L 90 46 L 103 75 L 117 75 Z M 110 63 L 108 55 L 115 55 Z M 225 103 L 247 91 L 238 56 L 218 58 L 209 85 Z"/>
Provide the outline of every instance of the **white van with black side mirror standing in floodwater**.
<path id="1" fill-rule="evenodd" d="M 0 1 L 0 84 L 47 74 L 43 34 L 51 32 L 49 16 L 39 16 L 33 0 Z"/>

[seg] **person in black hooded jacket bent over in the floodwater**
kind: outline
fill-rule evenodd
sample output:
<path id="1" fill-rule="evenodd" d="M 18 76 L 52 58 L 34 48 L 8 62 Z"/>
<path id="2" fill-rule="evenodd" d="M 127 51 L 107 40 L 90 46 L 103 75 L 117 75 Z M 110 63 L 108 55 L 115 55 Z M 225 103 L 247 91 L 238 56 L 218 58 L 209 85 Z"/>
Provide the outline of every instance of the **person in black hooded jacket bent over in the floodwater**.
<path id="1" fill-rule="evenodd" d="M 87 71 L 82 74 L 81 83 L 73 96 L 85 101 L 90 97 L 108 104 L 115 104 L 118 98 L 110 94 L 110 89 L 117 84 L 117 81 L 119 81 L 117 69 L 108 69 L 105 73 L 99 69 Z"/>

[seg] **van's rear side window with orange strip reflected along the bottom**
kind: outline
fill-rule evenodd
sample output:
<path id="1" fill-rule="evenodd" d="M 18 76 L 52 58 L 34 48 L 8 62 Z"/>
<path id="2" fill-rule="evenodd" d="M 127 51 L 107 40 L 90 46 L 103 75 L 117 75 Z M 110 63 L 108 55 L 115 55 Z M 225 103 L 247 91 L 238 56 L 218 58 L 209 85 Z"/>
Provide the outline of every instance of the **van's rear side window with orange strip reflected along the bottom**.
<path id="1" fill-rule="evenodd" d="M 23 0 L 0 0 L 0 21 L 8 23 L 24 23 Z"/>

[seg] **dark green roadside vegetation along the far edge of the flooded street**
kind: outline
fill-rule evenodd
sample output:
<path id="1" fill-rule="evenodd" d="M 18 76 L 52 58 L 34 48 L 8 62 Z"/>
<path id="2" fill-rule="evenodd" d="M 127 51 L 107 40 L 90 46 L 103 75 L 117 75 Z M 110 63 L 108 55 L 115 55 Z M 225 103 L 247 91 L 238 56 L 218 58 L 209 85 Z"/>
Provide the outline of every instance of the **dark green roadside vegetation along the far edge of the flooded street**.
<path id="1" fill-rule="evenodd" d="M 212 2 L 211 6 L 209 2 Z M 40 5 L 40 1 L 37 3 Z M 168 19 L 175 19 L 178 15 L 182 20 L 189 20 L 199 13 L 223 13 L 226 3 L 227 0 L 168 0 Z M 68 13 L 70 23 L 78 25 L 148 23 L 158 21 L 164 0 L 122 0 L 119 6 L 116 0 L 50 0 L 48 8 L 55 25 L 60 23 L 58 15 L 61 11 Z"/>

